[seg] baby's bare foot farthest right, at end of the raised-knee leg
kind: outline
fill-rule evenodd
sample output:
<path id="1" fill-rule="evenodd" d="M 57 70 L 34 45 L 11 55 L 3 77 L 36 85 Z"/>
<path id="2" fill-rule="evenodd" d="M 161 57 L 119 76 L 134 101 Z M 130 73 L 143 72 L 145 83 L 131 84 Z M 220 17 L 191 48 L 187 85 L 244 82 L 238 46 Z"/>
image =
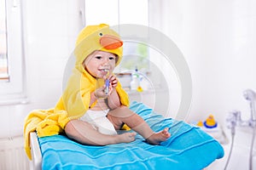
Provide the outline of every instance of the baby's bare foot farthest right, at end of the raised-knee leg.
<path id="1" fill-rule="evenodd" d="M 158 133 L 152 134 L 148 137 L 147 142 L 148 144 L 160 144 L 160 142 L 166 141 L 166 139 L 170 138 L 171 133 L 168 132 L 169 128 L 166 127 L 162 131 Z"/>

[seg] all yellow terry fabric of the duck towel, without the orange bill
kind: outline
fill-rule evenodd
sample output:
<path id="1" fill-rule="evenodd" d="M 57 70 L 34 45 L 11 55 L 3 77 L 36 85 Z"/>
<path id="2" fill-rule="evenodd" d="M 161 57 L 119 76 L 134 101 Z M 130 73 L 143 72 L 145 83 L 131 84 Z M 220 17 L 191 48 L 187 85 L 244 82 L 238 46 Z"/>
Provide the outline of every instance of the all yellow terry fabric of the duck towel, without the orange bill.
<path id="1" fill-rule="evenodd" d="M 87 26 L 79 33 L 74 50 L 76 63 L 73 68 L 73 75 L 69 78 L 67 87 L 58 103 L 55 105 L 55 108 L 48 111 L 32 111 L 26 117 L 24 125 L 25 150 L 30 159 L 29 133 L 37 131 L 39 137 L 61 133 L 67 122 L 72 119 L 78 119 L 89 109 L 90 94 L 98 88 L 98 84 L 96 78 L 92 77 L 84 70 L 84 66 L 82 65 L 84 59 L 95 50 L 102 50 L 116 54 L 118 56 L 116 65 L 119 64 L 122 58 L 123 48 L 103 48 L 100 44 L 102 35 L 119 37 L 119 35 L 109 29 L 109 26 L 106 24 Z M 128 95 L 125 93 L 120 83 L 118 83 L 116 91 L 119 94 L 121 104 L 128 106 Z M 129 127 L 125 127 L 125 129 L 129 129 Z"/>

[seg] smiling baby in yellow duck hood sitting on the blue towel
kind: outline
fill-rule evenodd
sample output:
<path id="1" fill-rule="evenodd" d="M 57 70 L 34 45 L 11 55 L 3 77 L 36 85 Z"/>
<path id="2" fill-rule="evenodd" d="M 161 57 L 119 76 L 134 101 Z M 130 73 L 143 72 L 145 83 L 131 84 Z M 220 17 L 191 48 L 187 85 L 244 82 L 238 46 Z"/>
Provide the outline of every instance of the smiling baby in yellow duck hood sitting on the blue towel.
<path id="1" fill-rule="evenodd" d="M 122 45 L 119 35 L 105 24 L 87 26 L 79 33 L 73 76 L 56 105 L 70 117 L 65 127 L 69 138 L 93 145 L 129 143 L 136 133 L 116 132 L 127 126 L 148 144 L 160 144 L 171 136 L 168 128 L 154 133 L 129 109 L 128 95 L 113 74 L 122 58 Z"/>

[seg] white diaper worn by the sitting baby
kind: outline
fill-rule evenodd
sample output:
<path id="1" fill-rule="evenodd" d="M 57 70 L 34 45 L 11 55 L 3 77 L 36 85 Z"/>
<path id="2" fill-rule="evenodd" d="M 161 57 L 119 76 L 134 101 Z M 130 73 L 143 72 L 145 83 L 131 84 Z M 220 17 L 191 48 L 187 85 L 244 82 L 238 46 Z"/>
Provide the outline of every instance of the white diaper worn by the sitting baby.
<path id="1" fill-rule="evenodd" d="M 80 117 L 81 121 L 89 122 L 99 133 L 103 134 L 117 134 L 112 122 L 107 118 L 108 110 L 105 111 L 91 111 L 88 110 L 84 116 Z"/>

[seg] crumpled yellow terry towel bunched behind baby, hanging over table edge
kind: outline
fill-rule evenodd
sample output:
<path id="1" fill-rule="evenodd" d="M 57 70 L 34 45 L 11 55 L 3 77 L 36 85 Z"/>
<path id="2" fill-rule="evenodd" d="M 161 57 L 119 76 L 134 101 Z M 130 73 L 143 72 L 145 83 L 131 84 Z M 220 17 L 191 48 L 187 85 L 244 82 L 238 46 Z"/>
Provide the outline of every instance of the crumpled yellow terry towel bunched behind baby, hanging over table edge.
<path id="1" fill-rule="evenodd" d="M 37 131 L 39 137 L 51 136 L 61 133 L 65 125 L 69 122 L 67 111 L 54 112 L 50 110 L 32 111 L 25 119 L 24 125 L 24 148 L 26 155 L 31 160 L 29 133 Z"/>

